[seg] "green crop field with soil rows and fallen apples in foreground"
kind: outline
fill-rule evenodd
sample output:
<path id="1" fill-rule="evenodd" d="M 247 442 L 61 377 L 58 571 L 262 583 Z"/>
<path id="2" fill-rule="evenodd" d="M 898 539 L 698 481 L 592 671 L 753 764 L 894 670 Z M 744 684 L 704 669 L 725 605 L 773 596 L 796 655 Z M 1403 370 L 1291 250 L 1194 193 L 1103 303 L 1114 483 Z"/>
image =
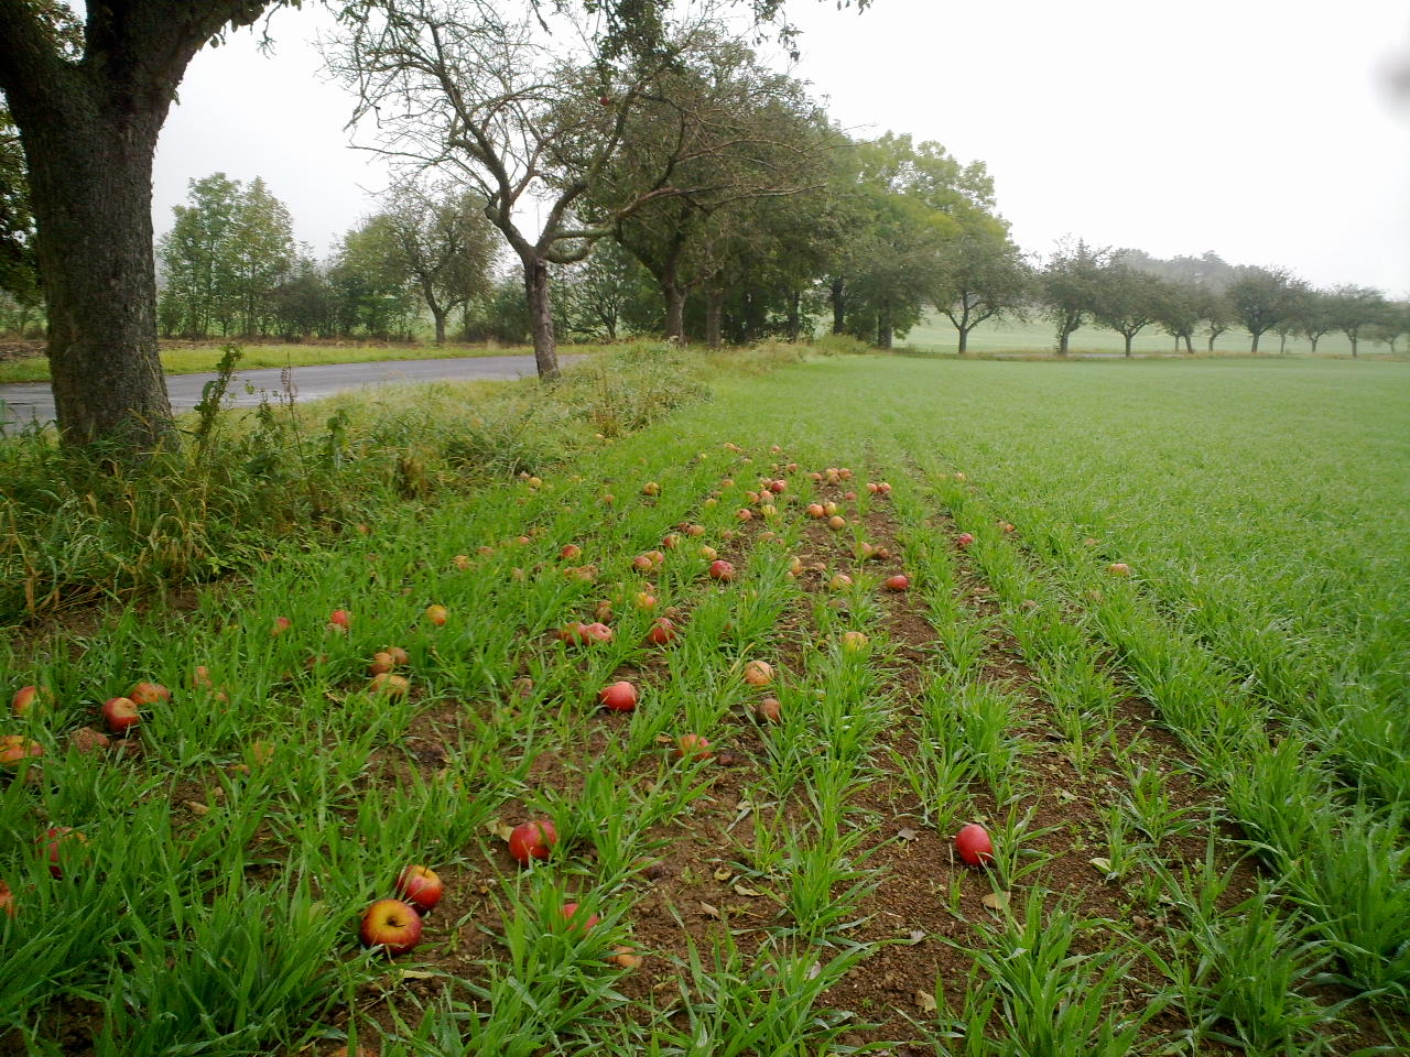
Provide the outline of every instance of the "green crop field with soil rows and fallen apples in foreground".
<path id="1" fill-rule="evenodd" d="M 0 778 L 0 1051 L 1410 1050 L 1410 368 L 712 388 L 17 626 L 54 699 L 0 726 L 44 753 Z M 138 681 L 171 700 L 83 751 Z M 391 958 L 358 923 L 413 863 L 446 896 Z"/>

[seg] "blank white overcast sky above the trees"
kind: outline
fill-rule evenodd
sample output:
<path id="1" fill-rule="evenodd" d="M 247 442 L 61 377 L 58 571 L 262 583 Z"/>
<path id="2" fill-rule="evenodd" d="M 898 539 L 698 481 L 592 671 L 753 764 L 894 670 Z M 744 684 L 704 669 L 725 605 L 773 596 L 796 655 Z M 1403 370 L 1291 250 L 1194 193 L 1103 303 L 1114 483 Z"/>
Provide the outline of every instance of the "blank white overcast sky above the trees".
<path id="1" fill-rule="evenodd" d="M 788 0 L 795 73 L 854 137 L 983 161 L 1025 249 L 1063 235 L 1156 256 L 1213 249 L 1331 286 L 1410 296 L 1404 0 Z M 372 211 L 382 169 L 347 147 L 351 100 L 279 11 L 200 52 L 157 152 L 154 216 L 193 178 L 264 176 L 319 255 Z"/>

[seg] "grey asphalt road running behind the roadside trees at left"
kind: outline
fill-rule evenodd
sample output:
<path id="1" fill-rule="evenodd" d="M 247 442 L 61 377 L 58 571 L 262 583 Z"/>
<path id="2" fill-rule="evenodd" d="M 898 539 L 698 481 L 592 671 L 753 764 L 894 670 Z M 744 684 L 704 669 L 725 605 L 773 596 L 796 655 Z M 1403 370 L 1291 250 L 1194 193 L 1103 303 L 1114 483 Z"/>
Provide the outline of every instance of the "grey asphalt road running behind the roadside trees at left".
<path id="1" fill-rule="evenodd" d="M 581 359 L 560 355 L 564 366 Z M 299 400 L 317 400 L 345 389 L 364 389 L 388 382 L 444 382 L 523 378 L 534 373 L 533 357 L 464 357 L 458 359 L 388 359 L 375 364 L 320 364 L 293 368 L 293 386 Z M 240 371 L 235 373 L 227 404 L 254 407 L 262 393 L 281 392 L 279 369 Z M 214 375 L 168 375 L 166 392 L 172 409 L 185 412 L 200 403 L 200 390 Z M 252 386 L 254 392 L 245 388 Z M 0 427 L 34 420 L 52 421 L 54 393 L 48 382 L 0 385 Z"/>

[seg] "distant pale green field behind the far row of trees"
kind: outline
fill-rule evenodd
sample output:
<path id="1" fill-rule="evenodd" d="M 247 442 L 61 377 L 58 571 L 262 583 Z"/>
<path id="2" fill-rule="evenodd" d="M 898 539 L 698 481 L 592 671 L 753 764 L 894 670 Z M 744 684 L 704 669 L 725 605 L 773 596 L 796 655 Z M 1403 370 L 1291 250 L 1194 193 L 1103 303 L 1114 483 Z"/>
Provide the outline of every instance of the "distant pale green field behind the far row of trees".
<path id="1" fill-rule="evenodd" d="M 940 314 L 932 314 L 919 326 L 914 327 L 904 338 L 897 341 L 897 347 L 909 348 L 916 352 L 955 352 L 959 344 L 959 333 L 950 321 Z M 1043 354 L 1050 352 L 1056 338 L 1052 327 L 1043 320 L 983 323 L 970 333 L 969 351 L 977 355 L 994 355 L 1004 352 Z M 1235 327 L 1220 334 L 1214 342 L 1214 355 L 1246 355 L 1249 350 L 1248 331 Z M 1196 355 L 1207 355 L 1208 334 L 1194 335 Z M 1404 345 L 1399 345 L 1402 355 Z M 1115 331 L 1098 327 L 1083 327 L 1072 335 L 1072 354 L 1081 355 L 1090 352 L 1124 352 L 1125 340 Z M 1135 355 L 1167 355 L 1175 352 L 1175 340 L 1159 327 L 1146 327 L 1136 334 L 1131 342 Z M 1277 334 L 1265 334 L 1259 341 L 1259 355 L 1277 355 Z M 1311 344 L 1307 338 L 1289 335 L 1286 345 L 1287 355 L 1311 355 Z M 1362 341 L 1358 355 L 1379 358 L 1390 352 L 1389 345 Z M 1318 357 L 1349 357 L 1351 342 L 1341 333 L 1327 334 L 1317 342 Z"/>

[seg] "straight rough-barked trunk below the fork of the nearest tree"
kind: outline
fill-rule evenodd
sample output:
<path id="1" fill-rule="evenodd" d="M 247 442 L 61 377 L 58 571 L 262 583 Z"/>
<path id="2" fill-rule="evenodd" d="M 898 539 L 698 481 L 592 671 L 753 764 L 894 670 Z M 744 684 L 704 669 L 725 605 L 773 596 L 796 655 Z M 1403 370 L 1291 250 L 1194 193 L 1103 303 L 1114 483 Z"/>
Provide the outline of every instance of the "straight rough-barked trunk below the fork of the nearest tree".
<path id="1" fill-rule="evenodd" d="M 51 386 L 68 444 L 149 450 L 172 430 L 152 255 L 152 154 L 165 117 L 165 106 L 69 99 L 25 132 Z"/>

